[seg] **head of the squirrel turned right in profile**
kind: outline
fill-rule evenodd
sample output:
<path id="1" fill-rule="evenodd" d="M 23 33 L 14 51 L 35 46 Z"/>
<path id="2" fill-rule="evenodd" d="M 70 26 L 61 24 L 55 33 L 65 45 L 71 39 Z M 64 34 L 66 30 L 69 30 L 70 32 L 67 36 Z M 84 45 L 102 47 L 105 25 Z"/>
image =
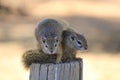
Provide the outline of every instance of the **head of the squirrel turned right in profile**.
<path id="1" fill-rule="evenodd" d="M 66 38 L 66 45 L 75 50 L 87 50 L 87 40 L 81 34 L 70 32 Z"/>

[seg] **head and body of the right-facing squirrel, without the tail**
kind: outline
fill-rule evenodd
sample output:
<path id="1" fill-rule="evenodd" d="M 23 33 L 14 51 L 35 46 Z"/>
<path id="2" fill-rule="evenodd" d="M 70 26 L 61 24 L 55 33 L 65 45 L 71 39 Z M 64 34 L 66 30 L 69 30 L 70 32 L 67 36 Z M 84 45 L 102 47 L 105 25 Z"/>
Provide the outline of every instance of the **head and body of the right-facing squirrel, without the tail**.
<path id="1" fill-rule="evenodd" d="M 72 29 L 64 30 L 62 38 L 62 62 L 75 60 L 76 51 L 87 50 L 88 48 L 86 38 L 83 35 L 76 33 Z"/>

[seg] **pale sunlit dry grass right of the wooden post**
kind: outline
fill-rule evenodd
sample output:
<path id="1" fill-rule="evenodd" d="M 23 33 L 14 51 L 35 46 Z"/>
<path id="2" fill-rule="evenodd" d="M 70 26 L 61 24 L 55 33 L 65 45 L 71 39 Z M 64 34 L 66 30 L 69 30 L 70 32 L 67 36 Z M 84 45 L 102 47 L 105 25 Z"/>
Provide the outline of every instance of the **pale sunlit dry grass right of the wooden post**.
<path id="1" fill-rule="evenodd" d="M 81 53 L 83 57 L 83 80 L 119 80 L 120 54 Z"/>

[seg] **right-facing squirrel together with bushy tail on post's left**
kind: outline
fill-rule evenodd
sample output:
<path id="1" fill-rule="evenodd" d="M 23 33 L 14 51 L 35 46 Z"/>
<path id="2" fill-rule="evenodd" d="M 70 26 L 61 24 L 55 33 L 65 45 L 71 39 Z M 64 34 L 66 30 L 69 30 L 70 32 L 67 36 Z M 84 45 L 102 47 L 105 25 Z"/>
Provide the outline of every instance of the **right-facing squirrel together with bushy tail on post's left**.
<path id="1" fill-rule="evenodd" d="M 63 55 L 62 62 L 69 62 L 76 59 L 77 50 L 87 50 L 87 40 L 81 34 L 72 29 L 64 30 L 62 33 Z M 56 54 L 44 54 L 42 50 L 29 50 L 23 55 L 23 63 L 29 68 L 32 63 L 54 63 Z"/>

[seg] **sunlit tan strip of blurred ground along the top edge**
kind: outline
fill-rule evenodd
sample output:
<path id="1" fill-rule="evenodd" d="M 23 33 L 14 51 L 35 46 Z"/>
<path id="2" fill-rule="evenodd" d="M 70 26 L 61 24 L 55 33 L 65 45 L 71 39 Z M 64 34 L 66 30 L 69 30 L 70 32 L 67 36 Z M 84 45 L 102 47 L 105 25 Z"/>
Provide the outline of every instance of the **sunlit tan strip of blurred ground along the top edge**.
<path id="1" fill-rule="evenodd" d="M 1 4 L 11 8 L 13 13 L 34 17 L 82 15 L 120 18 L 119 0 L 1 0 Z"/>

